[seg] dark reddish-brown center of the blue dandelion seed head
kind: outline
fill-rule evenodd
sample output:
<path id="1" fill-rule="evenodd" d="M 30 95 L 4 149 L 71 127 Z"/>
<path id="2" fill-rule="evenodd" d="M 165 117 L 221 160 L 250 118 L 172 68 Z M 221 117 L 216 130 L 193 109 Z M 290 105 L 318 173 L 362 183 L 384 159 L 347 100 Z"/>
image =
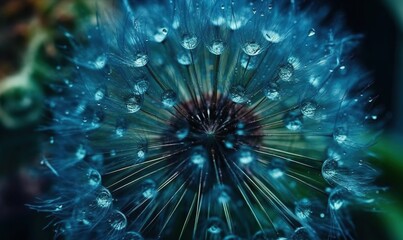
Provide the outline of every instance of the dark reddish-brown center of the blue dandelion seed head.
<path id="1" fill-rule="evenodd" d="M 179 148 L 186 149 L 183 159 L 211 174 L 219 169 L 220 174 L 226 175 L 230 174 L 226 171 L 228 161 L 243 164 L 253 161 L 249 152 L 258 149 L 261 140 L 260 122 L 253 109 L 224 96 L 204 96 L 200 102 L 191 100 L 175 109 L 162 142 L 163 145 L 179 142 Z"/>

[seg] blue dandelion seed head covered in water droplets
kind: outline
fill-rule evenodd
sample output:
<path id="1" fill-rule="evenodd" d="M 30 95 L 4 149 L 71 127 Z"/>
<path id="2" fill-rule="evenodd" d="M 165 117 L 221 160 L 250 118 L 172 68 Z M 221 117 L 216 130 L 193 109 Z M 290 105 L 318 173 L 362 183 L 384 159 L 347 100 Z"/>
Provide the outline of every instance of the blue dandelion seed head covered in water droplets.
<path id="1" fill-rule="evenodd" d="M 66 239 L 352 238 L 374 202 L 359 36 L 295 1 L 98 7 L 49 100 Z"/>

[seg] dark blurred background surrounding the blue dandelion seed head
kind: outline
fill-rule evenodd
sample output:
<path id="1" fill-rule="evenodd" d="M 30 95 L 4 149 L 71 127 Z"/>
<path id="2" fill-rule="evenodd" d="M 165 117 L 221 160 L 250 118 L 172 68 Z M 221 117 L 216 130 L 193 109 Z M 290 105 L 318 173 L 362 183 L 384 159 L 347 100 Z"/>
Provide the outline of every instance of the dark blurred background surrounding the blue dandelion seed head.
<path id="1" fill-rule="evenodd" d="M 307 1 L 309 2 L 309 1 Z M 388 186 L 380 211 L 355 211 L 357 239 L 403 240 L 403 0 L 333 0 L 331 14 L 365 38 L 356 58 L 374 79 L 385 130 L 371 147 L 373 164 Z M 86 0 L 3 0 L 0 4 L 0 239 L 53 239 L 51 219 L 25 207 L 47 185 L 38 172 L 48 141 L 39 126 L 49 121 L 44 98 L 56 67 L 60 27 L 71 31 L 93 19 Z M 45 229 L 44 229 L 45 228 Z"/>

